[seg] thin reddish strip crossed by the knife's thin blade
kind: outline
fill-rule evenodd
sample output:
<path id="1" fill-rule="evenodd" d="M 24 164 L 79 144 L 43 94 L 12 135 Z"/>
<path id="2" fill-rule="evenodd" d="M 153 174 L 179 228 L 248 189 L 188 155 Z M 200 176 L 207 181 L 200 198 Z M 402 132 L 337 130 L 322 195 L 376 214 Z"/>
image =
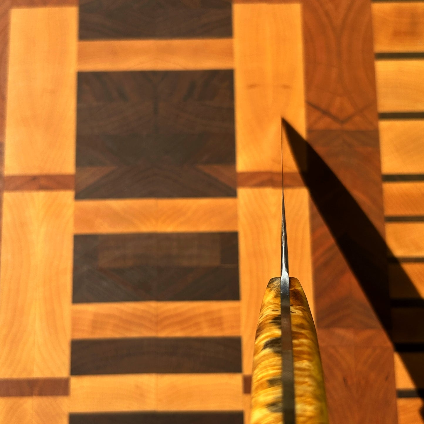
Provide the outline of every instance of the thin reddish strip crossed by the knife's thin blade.
<path id="1" fill-rule="evenodd" d="M 238 172 L 237 187 L 304 187 L 302 177 L 296 172 L 284 173 L 282 178 L 279 172 Z"/>

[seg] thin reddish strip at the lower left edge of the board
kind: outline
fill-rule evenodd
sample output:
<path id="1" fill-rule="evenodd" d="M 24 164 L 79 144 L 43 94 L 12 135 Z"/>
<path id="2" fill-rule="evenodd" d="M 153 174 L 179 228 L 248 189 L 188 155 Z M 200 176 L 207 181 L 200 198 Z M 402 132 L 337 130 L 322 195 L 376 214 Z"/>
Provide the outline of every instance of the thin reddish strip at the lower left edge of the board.
<path id="1" fill-rule="evenodd" d="M 69 378 L 0 379 L 0 397 L 68 396 Z"/>

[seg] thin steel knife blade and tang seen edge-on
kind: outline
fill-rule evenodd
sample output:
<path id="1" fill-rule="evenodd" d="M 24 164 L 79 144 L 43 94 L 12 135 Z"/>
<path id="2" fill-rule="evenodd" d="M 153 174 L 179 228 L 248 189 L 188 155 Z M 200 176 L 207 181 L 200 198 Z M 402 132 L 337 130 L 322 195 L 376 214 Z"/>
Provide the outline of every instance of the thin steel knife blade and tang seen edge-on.
<path id="1" fill-rule="evenodd" d="M 282 137 L 285 131 L 282 123 Z M 282 189 L 281 213 L 281 277 L 280 277 L 280 306 L 281 306 L 281 360 L 282 360 L 282 413 L 284 424 L 295 424 L 294 399 L 294 370 L 293 370 L 293 343 L 290 318 L 290 287 L 289 287 L 289 259 L 287 251 L 286 216 L 284 207 L 284 190 Z"/>

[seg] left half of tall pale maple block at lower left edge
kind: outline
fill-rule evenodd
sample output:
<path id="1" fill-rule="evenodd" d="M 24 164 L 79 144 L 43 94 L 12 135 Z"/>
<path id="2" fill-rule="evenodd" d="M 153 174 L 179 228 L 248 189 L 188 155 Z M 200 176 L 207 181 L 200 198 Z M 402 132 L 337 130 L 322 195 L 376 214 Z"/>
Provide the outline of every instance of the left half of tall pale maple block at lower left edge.
<path id="1" fill-rule="evenodd" d="M 39 222 L 38 200 L 35 192 L 4 193 L 3 197 L 0 266 L 1 377 L 33 377 L 34 374 L 39 258 L 36 234 L 36 224 Z"/>

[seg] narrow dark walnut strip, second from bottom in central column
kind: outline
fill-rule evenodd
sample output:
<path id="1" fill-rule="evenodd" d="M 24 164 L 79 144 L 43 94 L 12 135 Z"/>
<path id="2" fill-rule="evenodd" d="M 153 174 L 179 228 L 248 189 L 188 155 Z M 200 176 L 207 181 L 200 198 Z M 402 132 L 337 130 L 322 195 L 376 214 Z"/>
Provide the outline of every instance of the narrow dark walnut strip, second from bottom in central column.
<path id="1" fill-rule="evenodd" d="M 240 372 L 238 337 L 73 340 L 71 347 L 71 375 Z"/>

